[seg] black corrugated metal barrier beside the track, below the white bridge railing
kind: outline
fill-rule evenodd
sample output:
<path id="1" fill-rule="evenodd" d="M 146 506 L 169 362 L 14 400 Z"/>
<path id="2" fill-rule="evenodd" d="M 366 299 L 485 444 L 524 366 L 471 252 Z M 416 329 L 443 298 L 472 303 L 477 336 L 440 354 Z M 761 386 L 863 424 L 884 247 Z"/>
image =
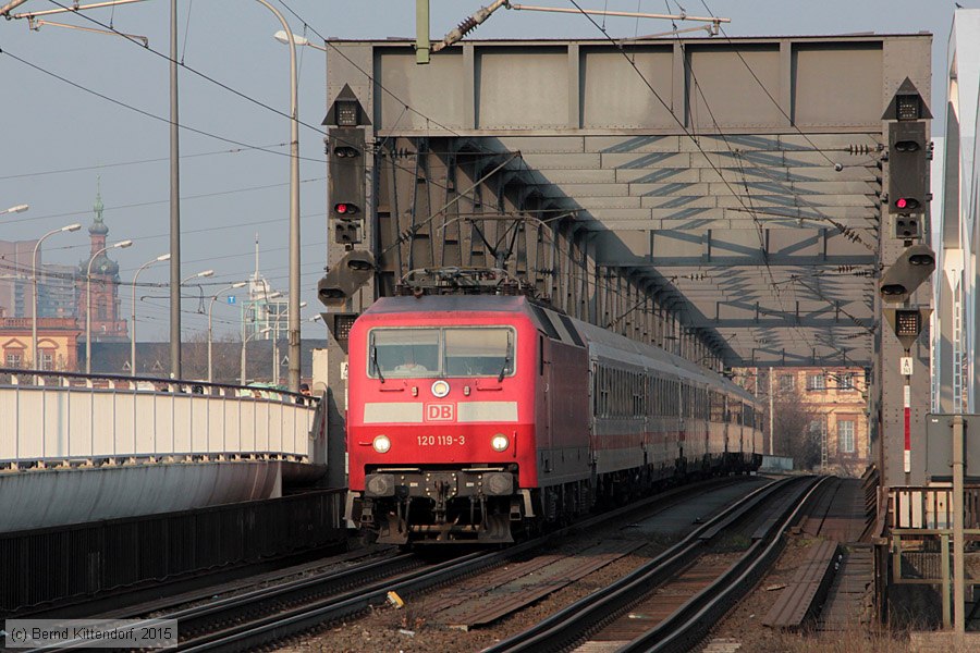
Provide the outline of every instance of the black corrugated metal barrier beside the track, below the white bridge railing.
<path id="1" fill-rule="evenodd" d="M 0 615 L 340 542 L 344 492 L 0 534 Z"/>

